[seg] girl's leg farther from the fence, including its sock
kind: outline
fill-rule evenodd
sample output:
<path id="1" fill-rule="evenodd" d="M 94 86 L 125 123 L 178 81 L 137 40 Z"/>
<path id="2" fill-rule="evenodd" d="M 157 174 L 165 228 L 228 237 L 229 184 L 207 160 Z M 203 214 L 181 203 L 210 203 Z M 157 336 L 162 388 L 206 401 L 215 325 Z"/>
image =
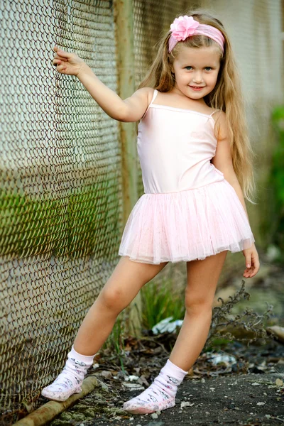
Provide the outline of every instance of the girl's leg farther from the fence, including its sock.
<path id="1" fill-rule="evenodd" d="M 187 371 L 194 364 L 207 339 L 212 317 L 212 301 L 227 251 L 187 262 L 185 320 L 170 359 L 151 386 L 124 403 L 133 414 L 153 413 L 175 405 L 175 394 Z"/>

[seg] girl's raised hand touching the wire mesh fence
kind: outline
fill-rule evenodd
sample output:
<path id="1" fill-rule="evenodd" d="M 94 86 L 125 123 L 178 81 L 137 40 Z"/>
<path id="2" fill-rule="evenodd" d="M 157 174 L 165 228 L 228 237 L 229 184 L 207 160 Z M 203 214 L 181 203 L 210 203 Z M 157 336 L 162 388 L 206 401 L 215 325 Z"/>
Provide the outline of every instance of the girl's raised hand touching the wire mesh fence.
<path id="1" fill-rule="evenodd" d="M 61 74 L 77 76 L 82 70 L 82 67 L 86 65 L 76 53 L 65 52 L 58 48 L 58 46 L 55 46 L 53 50 L 56 52 L 53 65 L 57 67 L 56 70 L 61 72 Z"/>

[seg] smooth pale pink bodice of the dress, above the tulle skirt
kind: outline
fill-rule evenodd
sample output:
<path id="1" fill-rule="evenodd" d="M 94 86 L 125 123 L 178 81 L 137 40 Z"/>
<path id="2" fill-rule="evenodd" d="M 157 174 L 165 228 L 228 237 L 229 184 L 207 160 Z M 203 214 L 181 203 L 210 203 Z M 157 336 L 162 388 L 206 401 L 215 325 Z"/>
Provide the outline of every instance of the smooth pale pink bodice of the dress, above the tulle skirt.
<path id="1" fill-rule="evenodd" d="M 217 148 L 212 114 L 153 104 L 138 124 L 145 193 L 180 192 L 224 180 L 210 160 Z"/>

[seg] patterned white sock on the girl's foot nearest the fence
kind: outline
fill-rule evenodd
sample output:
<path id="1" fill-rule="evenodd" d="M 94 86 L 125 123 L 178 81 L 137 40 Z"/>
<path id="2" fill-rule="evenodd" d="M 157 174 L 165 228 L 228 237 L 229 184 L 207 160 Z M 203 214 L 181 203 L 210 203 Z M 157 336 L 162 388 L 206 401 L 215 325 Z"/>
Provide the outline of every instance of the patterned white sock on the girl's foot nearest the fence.
<path id="1" fill-rule="evenodd" d="M 41 394 L 46 398 L 63 401 L 72 393 L 80 392 L 84 376 L 87 369 L 92 366 L 93 360 L 94 355 L 78 354 L 72 346 L 62 372 L 53 383 L 43 389 Z"/>

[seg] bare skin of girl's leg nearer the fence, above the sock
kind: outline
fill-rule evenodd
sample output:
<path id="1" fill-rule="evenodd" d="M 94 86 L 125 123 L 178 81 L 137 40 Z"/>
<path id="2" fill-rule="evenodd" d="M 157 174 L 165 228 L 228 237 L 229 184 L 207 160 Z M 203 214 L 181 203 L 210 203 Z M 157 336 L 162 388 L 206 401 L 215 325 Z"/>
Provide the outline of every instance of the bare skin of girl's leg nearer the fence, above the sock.
<path id="1" fill-rule="evenodd" d="M 97 300 L 84 317 L 74 342 L 75 351 L 82 355 L 96 354 L 111 333 L 119 313 L 167 263 L 152 265 L 133 262 L 126 256 L 121 257 Z"/>

